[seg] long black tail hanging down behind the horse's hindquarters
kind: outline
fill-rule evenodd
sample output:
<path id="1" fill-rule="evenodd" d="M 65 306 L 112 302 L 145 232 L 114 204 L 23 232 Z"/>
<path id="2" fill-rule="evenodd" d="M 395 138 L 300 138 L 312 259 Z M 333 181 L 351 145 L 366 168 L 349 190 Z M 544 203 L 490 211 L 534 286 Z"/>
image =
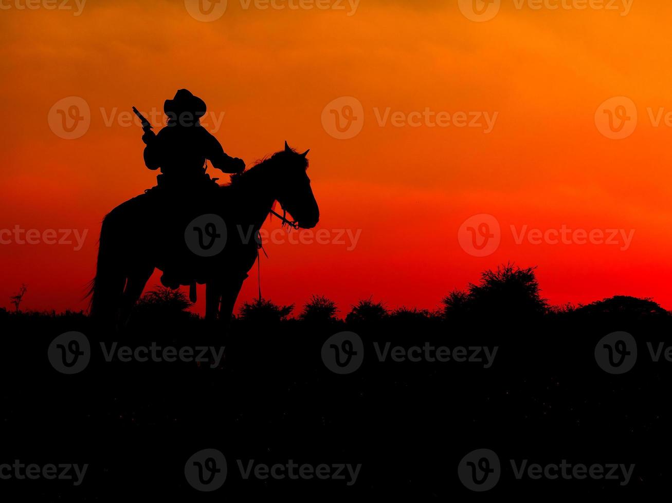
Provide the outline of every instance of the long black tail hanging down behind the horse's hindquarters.
<path id="1" fill-rule="evenodd" d="M 126 285 L 126 271 L 124 268 L 122 244 L 122 222 L 116 212 L 108 214 L 103 219 L 98 240 L 98 260 L 95 278 L 91 281 L 91 304 L 89 313 L 98 321 L 111 321 L 118 316 L 124 286 Z"/>

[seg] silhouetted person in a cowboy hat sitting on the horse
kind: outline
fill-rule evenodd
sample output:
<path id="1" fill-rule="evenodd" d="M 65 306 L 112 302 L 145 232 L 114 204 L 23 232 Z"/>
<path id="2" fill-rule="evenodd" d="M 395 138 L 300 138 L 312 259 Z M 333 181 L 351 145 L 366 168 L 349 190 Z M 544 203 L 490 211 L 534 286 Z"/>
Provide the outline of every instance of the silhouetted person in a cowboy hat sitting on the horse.
<path id="1" fill-rule="evenodd" d="M 198 184 L 209 177 L 204 176 L 204 164 L 225 173 L 245 170 L 245 162 L 224 153 L 216 137 L 200 124 L 206 113 L 205 102 L 186 89 L 180 89 L 173 99 L 167 99 L 163 111 L 168 117 L 167 125 L 155 135 L 146 129 L 142 135 L 144 164 L 151 170 L 161 168 L 158 176 L 162 184 L 183 187 Z"/>

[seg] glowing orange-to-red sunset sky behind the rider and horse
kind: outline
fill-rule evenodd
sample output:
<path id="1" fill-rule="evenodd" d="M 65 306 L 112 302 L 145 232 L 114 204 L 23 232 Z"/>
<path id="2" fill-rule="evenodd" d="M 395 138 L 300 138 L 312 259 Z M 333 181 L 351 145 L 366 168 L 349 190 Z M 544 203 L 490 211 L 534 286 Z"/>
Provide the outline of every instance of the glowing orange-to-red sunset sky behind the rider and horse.
<path id="1" fill-rule="evenodd" d="M 373 295 L 392 308 L 431 309 L 510 260 L 539 266 L 554 303 L 631 294 L 672 308 L 672 122 L 652 121 L 661 109 L 672 112 L 668 3 L 628 1 L 622 15 L 621 0 L 618 9 L 501 0 L 493 19 L 475 22 L 458 0 L 321 0 L 328 9 L 228 0 L 206 22 L 190 15 L 187 7 L 198 7 L 191 0 L 89 0 L 81 12 L 74 0 L 69 10 L 34 1 L 34 9 L 0 2 L 0 232 L 38 229 L 39 241 L 46 229 L 88 233 L 77 251 L 76 243 L 19 244 L 0 234 L 0 305 L 26 283 L 26 309 L 85 307 L 103 215 L 154 182 L 140 127 L 119 114 L 132 105 L 160 111 L 186 87 L 208 103 L 208 129 L 224 150 L 248 164 L 285 139 L 310 148 L 318 229 L 333 239 L 338 229 L 360 231 L 354 247 L 347 236 L 345 245 L 266 245 L 268 298 L 301 304 L 326 294 L 347 312 Z M 90 110 L 76 139 L 59 137 L 48 121 L 67 97 Z M 362 130 L 349 139 L 333 137 L 322 120 L 339 97 L 362 106 Z M 607 117 L 599 107 L 612 97 L 636 107 L 636 129 L 624 139 L 596 127 L 596 111 Z M 460 112 L 495 120 L 489 132 L 392 121 L 396 112 L 415 121 L 425 110 L 458 123 Z M 501 226 L 501 244 L 485 257 L 458 241 L 462 223 L 478 214 Z M 563 225 L 634 235 L 627 249 L 515 239 L 521 229 Z M 256 294 L 256 280 L 253 269 L 241 299 Z M 149 285 L 156 283 L 158 276 Z"/>

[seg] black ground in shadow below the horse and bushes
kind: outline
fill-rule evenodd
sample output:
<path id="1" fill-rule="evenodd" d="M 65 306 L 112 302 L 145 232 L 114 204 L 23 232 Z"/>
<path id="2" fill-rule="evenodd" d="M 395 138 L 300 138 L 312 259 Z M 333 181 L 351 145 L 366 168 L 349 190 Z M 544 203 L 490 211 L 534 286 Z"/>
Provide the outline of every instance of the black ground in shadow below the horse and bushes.
<path id="1" fill-rule="evenodd" d="M 449 500 L 536 493 L 622 496 L 669 490 L 672 363 L 653 363 L 646 341 L 667 341 L 668 313 L 588 310 L 535 321 L 497 317 L 387 317 L 375 322 L 234 321 L 219 327 L 192 317 L 136 319 L 102 335 L 78 314 L 0 311 L 2 449 L 0 463 L 89 463 L 83 484 L 0 480 L 3 501 L 336 500 L 352 496 Z M 149 321 L 151 319 L 151 322 Z M 323 343 L 358 333 L 364 364 L 337 375 Z M 47 349 L 81 331 L 93 353 L 75 375 L 56 372 Z M 624 375 L 597 366 L 597 341 L 628 331 L 638 359 Z M 224 345 L 218 368 L 184 362 L 103 360 L 98 341 L 132 347 Z M 469 362 L 380 363 L 372 342 L 392 345 L 498 345 L 489 369 Z M 655 345 L 655 344 L 654 344 Z M 187 459 L 218 449 L 224 485 L 199 492 L 185 480 Z M 492 449 L 503 472 L 485 493 L 458 478 L 474 449 Z M 243 480 L 236 459 L 286 463 L 362 463 L 343 480 Z M 634 463 L 629 484 L 610 480 L 516 480 L 509 459 L 530 463 Z M 20 495 L 20 496 L 19 496 Z"/>

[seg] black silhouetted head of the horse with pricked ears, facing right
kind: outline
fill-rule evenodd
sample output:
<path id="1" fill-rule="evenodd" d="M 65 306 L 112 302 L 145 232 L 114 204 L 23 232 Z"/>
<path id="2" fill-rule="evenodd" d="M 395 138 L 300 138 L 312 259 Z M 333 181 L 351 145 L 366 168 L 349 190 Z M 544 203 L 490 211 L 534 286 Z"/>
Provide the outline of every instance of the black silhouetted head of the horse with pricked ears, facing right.
<path id="1" fill-rule="evenodd" d="M 281 166 L 276 173 L 276 199 L 304 229 L 312 229 L 320 219 L 320 210 L 306 174 L 308 152 L 298 154 L 285 142 L 285 149 L 274 155 Z"/>

